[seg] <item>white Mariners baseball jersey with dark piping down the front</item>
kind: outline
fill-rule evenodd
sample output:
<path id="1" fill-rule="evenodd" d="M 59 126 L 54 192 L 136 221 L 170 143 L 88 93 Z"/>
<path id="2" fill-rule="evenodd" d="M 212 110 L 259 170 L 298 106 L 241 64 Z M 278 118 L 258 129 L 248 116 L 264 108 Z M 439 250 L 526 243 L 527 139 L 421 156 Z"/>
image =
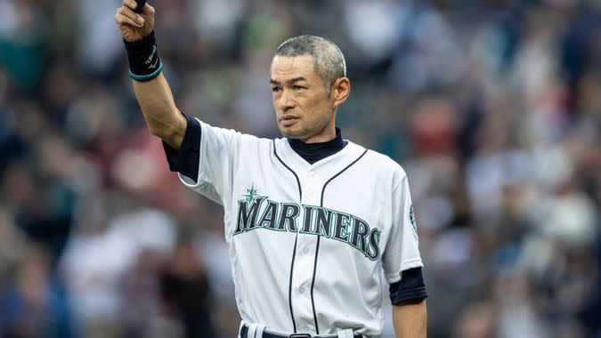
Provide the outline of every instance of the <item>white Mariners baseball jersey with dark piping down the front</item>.
<path id="1" fill-rule="evenodd" d="M 241 318 L 379 336 L 381 269 L 392 284 L 423 265 L 401 166 L 350 141 L 311 165 L 287 139 L 200 125 L 198 181 L 180 179 L 223 205 Z"/>

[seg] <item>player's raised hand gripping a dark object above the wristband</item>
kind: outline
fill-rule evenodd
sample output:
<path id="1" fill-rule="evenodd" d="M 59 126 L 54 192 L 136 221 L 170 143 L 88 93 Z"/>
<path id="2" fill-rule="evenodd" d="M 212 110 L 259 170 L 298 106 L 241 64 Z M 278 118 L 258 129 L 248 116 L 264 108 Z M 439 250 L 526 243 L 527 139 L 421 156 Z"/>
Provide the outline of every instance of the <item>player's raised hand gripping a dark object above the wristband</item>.
<path id="1" fill-rule="evenodd" d="M 135 0 L 123 0 L 115 14 L 115 22 L 127 42 L 142 40 L 154 28 L 154 7 L 144 4 L 142 12 L 136 13 L 136 6 Z"/>

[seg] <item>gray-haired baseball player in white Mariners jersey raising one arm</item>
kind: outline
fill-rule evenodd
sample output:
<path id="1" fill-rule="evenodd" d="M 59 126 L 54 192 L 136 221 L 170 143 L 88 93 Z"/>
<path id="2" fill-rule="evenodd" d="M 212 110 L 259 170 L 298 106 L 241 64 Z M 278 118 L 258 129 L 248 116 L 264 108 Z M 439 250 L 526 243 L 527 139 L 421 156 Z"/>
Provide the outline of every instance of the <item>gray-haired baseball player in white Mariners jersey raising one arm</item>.
<path id="1" fill-rule="evenodd" d="M 384 270 L 396 335 L 426 337 L 407 176 L 336 128 L 351 91 L 337 45 L 296 36 L 278 47 L 269 82 L 284 137 L 260 139 L 177 109 L 161 73 L 154 8 L 136 7 L 123 0 L 115 15 L 135 95 L 170 169 L 223 205 L 239 336 L 378 337 Z"/>

